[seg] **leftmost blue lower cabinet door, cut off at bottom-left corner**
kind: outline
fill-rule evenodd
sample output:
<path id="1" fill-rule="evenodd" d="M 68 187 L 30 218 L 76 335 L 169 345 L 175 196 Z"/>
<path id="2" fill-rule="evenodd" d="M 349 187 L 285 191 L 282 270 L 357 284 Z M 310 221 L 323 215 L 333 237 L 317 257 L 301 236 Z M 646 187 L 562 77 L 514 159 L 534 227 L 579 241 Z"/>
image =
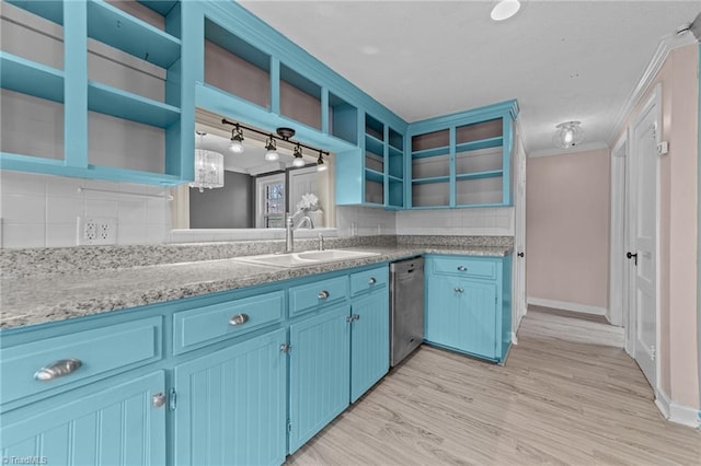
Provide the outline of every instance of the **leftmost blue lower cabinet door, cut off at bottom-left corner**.
<path id="1" fill-rule="evenodd" d="M 116 377 L 115 377 L 116 378 Z M 94 394 L 69 394 L 3 415 L 2 458 L 9 464 L 165 464 L 166 405 L 162 371 Z M 55 406 L 54 406 L 55 405 Z M 13 459 L 14 458 L 14 459 Z"/>

